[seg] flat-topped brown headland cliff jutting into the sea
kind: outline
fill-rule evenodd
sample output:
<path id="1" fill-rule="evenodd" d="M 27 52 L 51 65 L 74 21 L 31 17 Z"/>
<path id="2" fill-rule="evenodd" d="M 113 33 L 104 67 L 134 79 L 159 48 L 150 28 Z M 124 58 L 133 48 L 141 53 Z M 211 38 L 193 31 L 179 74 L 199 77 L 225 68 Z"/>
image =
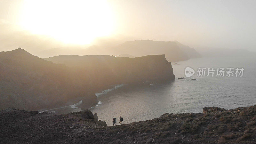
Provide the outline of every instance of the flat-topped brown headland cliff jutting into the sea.
<path id="1" fill-rule="evenodd" d="M 45 60 L 66 64 L 74 72 L 73 78 L 79 78 L 77 82 L 95 91 L 106 89 L 113 84 L 169 82 L 175 78 L 172 65 L 164 55 L 136 58 L 61 55 Z"/>

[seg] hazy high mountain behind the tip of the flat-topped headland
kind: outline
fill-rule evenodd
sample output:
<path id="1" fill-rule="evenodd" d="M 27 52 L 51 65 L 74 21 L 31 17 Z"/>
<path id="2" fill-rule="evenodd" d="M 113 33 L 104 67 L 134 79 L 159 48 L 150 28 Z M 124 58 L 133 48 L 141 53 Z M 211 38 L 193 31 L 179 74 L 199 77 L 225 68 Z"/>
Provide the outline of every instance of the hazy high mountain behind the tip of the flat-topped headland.
<path id="1" fill-rule="evenodd" d="M 165 54 L 166 59 L 171 62 L 200 57 L 200 54 L 197 53 L 196 50 L 180 44 L 178 41 L 127 41 L 116 46 L 113 51 L 118 53 L 128 53 L 136 57 L 150 54 Z"/>

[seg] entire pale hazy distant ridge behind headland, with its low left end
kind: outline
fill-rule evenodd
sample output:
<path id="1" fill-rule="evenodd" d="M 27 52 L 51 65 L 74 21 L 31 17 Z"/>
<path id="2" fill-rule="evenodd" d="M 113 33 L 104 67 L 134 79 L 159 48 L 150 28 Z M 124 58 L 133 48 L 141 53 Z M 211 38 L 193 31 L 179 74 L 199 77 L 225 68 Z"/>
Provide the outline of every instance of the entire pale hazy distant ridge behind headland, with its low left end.
<path id="1" fill-rule="evenodd" d="M 153 40 L 135 40 L 126 41 L 116 46 L 113 45 L 92 45 L 88 48 L 56 48 L 41 52 L 45 56 L 55 55 L 131 55 L 140 57 L 145 55 L 165 54 L 170 62 L 189 60 L 191 58 L 200 58 L 201 55 L 195 49 L 181 44 L 178 41 L 153 41 Z M 44 57 L 45 57 L 44 56 Z M 130 56 L 128 56 L 130 57 Z"/>

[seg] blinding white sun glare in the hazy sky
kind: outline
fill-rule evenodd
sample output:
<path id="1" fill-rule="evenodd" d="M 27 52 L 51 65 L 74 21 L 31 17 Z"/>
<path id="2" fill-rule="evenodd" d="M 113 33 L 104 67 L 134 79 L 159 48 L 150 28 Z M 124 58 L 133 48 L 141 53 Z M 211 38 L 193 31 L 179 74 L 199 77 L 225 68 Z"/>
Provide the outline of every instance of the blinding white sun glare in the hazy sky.
<path id="1" fill-rule="evenodd" d="M 67 44 L 89 44 L 114 30 L 113 12 L 104 0 L 25 0 L 20 14 L 22 28 Z"/>

